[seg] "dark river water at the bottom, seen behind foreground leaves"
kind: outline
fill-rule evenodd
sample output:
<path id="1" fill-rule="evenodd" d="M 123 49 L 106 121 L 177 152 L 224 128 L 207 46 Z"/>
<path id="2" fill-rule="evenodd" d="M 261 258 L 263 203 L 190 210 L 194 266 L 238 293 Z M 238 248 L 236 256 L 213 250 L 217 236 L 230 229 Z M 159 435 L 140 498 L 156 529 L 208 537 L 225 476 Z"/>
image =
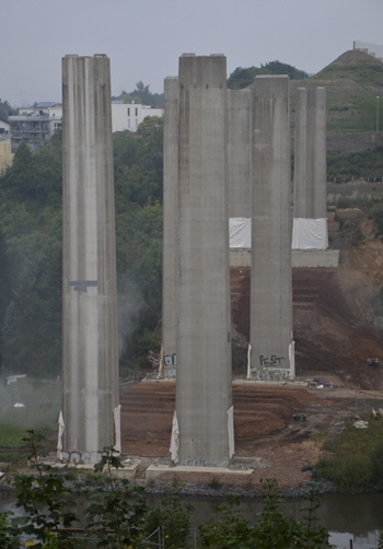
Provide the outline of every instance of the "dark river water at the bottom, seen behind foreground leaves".
<path id="1" fill-rule="evenodd" d="M 0 492 L 0 512 L 12 510 L 14 497 Z M 160 497 L 148 497 L 148 502 L 159 504 Z M 198 525 L 214 512 L 217 503 L 223 500 L 211 498 L 182 498 L 194 506 L 193 524 Z M 323 495 L 321 506 L 315 512 L 323 526 L 330 532 L 330 542 L 337 549 L 376 549 L 379 532 L 383 530 L 383 492 L 358 495 Z M 304 500 L 287 500 L 286 512 L 295 519 L 301 517 L 300 509 Z M 248 519 L 262 512 L 262 500 L 245 499 L 241 502 L 243 514 Z M 350 545 L 352 541 L 352 546 Z"/>

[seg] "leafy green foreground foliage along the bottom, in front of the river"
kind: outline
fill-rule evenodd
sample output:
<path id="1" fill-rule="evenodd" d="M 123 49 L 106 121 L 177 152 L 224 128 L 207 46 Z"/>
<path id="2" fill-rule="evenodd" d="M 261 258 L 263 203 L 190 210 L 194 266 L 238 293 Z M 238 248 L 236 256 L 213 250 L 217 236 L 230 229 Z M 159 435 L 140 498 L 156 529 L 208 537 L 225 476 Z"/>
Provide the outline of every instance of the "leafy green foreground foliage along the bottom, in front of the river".
<path id="1" fill-rule="evenodd" d="M 9 549 L 21 547 L 21 536 L 34 536 L 40 549 L 80 549 L 92 547 L 125 549 L 134 547 L 166 547 L 169 549 L 330 549 L 328 532 L 317 524 L 318 507 L 314 484 L 309 486 L 307 505 L 297 521 L 283 512 L 283 499 L 276 491 L 274 479 L 264 481 L 264 511 L 257 521 L 248 521 L 237 500 L 217 507 L 216 516 L 190 528 L 193 507 L 183 506 L 176 497 L 149 507 L 143 488 L 126 479 L 57 472 L 49 466 L 35 466 L 37 477 L 18 474 L 15 477 L 16 506 L 23 510 L 18 519 L 12 513 L 0 514 L 0 540 Z M 86 498 L 86 500 L 84 500 Z M 70 528 L 83 505 L 82 537 Z M 89 503 L 89 504 L 86 504 Z M 80 515 L 80 516 L 81 516 Z M 63 527 L 62 527 L 63 526 Z M 74 535 L 73 535 L 74 534 Z M 160 541 L 162 540 L 162 541 Z M 159 544 L 158 544 L 159 541 Z"/>

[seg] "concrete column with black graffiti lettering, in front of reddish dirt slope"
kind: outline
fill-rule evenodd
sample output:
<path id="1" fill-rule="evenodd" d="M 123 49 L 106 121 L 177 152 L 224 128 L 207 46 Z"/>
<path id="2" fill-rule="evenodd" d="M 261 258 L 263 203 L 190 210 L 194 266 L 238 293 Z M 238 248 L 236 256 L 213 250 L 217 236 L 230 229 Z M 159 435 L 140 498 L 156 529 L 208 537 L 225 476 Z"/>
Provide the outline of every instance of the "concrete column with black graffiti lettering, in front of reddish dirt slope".
<path id="1" fill-rule="evenodd" d="M 289 78 L 254 80 L 252 370 L 289 369 L 292 340 Z"/>

